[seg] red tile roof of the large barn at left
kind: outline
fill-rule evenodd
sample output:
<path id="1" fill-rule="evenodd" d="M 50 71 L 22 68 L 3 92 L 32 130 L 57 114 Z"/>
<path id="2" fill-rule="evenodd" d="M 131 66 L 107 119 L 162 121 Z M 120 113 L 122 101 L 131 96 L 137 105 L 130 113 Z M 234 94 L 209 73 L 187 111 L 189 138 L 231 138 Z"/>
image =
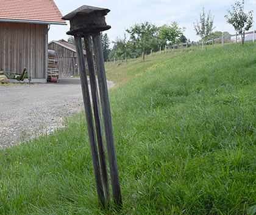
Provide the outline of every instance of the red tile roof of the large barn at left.
<path id="1" fill-rule="evenodd" d="M 0 21 L 66 23 L 54 0 L 0 0 Z"/>

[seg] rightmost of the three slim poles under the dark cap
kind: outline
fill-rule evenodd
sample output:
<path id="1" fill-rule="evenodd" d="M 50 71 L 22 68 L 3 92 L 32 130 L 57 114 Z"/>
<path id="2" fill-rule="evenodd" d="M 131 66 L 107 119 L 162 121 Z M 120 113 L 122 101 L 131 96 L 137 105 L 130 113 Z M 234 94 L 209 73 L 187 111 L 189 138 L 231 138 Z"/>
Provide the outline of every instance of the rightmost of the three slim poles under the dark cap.
<path id="1" fill-rule="evenodd" d="M 119 184 L 118 165 L 116 160 L 116 151 L 115 151 L 112 119 L 111 119 L 111 113 L 110 113 L 110 104 L 108 100 L 107 80 L 105 77 L 105 66 L 104 66 L 104 58 L 102 53 L 101 36 L 99 32 L 93 33 L 92 36 L 93 36 L 94 55 L 95 55 L 95 61 L 96 61 L 96 70 L 97 70 L 98 83 L 99 83 L 99 92 L 101 95 L 102 115 L 103 115 L 103 122 L 104 122 L 105 138 L 107 143 L 108 163 L 110 168 L 113 197 L 114 197 L 115 203 L 121 208 L 122 197 L 121 197 L 121 189 Z"/>

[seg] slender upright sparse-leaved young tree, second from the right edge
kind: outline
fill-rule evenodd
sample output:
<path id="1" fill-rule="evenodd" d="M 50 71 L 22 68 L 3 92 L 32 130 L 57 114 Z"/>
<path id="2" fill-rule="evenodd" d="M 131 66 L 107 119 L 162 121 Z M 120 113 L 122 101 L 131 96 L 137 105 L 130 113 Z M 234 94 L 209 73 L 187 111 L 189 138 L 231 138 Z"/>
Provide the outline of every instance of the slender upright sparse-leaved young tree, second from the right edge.
<path id="1" fill-rule="evenodd" d="M 205 42 L 207 37 L 213 32 L 213 18 L 210 10 L 208 14 L 205 14 L 204 7 L 203 12 L 200 13 L 200 21 L 198 22 L 196 19 L 196 24 L 194 24 L 194 30 L 196 31 L 196 35 L 200 36 L 202 40 Z M 205 46 L 206 49 L 206 46 Z"/>

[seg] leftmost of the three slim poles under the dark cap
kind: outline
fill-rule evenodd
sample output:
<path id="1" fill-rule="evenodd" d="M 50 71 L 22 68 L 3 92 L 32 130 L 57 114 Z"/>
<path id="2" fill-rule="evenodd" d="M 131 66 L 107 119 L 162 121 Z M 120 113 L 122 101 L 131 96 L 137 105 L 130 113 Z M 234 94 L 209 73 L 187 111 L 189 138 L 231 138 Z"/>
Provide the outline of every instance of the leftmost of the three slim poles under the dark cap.
<path id="1" fill-rule="evenodd" d="M 74 36 L 74 39 L 76 42 L 77 60 L 78 60 L 79 70 L 80 70 L 80 80 L 81 80 L 82 93 L 83 93 L 83 99 L 84 99 L 87 129 L 88 129 L 89 142 L 90 142 L 90 148 L 91 148 L 91 157 L 93 160 L 93 170 L 94 170 L 94 177 L 96 181 L 96 189 L 97 189 L 99 201 L 101 205 L 105 207 L 104 191 L 102 189 L 102 180 L 101 180 L 101 170 L 99 169 L 98 149 L 96 145 L 96 137 L 95 137 L 94 125 L 93 125 L 93 114 L 91 111 L 90 94 L 89 94 L 88 81 L 87 81 L 87 75 L 85 70 L 85 60 L 84 60 L 84 52 L 82 47 L 82 39 L 81 39 L 81 36 L 77 36 L 77 35 Z"/>

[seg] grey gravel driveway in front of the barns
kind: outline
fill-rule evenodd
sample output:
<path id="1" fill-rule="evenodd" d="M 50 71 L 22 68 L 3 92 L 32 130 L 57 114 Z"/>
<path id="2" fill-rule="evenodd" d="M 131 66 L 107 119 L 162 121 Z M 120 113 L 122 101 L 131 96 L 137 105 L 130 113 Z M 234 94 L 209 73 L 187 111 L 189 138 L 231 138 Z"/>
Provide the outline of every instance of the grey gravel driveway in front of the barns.
<path id="1" fill-rule="evenodd" d="M 113 83 L 108 81 L 108 88 Z M 90 87 L 89 87 L 90 88 Z M 0 85 L 0 148 L 52 132 L 84 108 L 79 78 L 58 83 Z"/>

